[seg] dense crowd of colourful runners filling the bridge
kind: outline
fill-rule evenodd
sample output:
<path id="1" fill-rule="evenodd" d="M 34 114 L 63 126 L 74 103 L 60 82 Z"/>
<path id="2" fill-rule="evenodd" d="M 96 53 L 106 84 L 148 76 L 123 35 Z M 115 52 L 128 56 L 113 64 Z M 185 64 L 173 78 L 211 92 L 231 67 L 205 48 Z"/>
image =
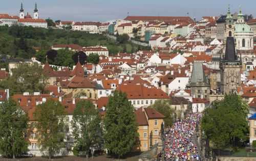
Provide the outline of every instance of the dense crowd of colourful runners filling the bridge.
<path id="1" fill-rule="evenodd" d="M 186 161 L 201 160 L 195 143 L 196 125 L 201 114 L 189 114 L 185 119 L 177 121 L 165 135 L 165 160 Z"/>

